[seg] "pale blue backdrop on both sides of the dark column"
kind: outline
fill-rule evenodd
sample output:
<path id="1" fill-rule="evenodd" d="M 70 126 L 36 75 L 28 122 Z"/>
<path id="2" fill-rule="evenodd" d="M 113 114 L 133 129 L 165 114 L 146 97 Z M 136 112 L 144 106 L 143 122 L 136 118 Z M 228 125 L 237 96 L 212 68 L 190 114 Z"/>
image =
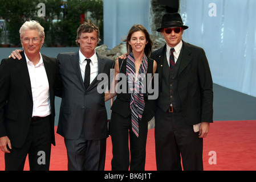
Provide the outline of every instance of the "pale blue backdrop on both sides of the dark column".
<path id="1" fill-rule="evenodd" d="M 104 44 L 109 49 L 135 23 L 151 34 L 150 2 L 104 0 Z M 256 1 L 180 0 L 180 14 L 189 26 L 183 39 L 205 49 L 213 82 L 256 97 Z"/>

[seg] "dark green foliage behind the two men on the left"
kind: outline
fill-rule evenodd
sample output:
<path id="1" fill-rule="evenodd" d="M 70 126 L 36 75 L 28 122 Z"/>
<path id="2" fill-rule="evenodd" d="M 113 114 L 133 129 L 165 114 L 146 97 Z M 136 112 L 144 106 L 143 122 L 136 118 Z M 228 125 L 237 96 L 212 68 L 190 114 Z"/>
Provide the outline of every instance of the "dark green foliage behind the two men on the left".
<path id="1" fill-rule="evenodd" d="M 44 17 L 38 17 L 38 3 L 46 6 Z M 64 9 L 61 8 L 63 3 L 66 3 Z M 87 11 L 91 12 L 91 20 L 100 28 L 103 39 L 103 0 L 0 0 L 0 16 L 8 24 L 9 40 L 14 45 L 20 43 L 19 28 L 26 20 L 33 19 L 44 27 L 47 46 L 75 46 L 81 15 Z M 54 19 L 57 19 L 56 23 L 53 23 Z"/>

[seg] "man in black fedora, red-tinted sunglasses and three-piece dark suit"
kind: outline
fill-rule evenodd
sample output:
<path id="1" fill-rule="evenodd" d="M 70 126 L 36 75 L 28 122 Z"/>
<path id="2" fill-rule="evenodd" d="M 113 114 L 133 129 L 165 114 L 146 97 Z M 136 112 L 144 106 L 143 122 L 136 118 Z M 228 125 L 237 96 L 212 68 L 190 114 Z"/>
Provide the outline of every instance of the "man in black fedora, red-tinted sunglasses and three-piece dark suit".
<path id="1" fill-rule="evenodd" d="M 187 28 L 180 14 L 168 13 L 157 29 L 166 41 L 152 53 L 159 73 L 157 170 L 203 170 L 203 138 L 213 122 L 213 81 L 204 49 L 182 40 Z"/>

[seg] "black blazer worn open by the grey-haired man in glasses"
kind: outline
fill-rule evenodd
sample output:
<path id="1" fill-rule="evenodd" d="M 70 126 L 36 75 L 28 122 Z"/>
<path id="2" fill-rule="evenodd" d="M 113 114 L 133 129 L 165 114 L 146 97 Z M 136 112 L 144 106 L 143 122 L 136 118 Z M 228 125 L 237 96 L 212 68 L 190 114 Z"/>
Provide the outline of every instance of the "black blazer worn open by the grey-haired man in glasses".
<path id="1" fill-rule="evenodd" d="M 25 143 L 32 116 L 32 91 L 29 70 L 24 52 L 22 59 L 3 59 L 0 66 L 0 137 L 7 136 L 11 146 L 21 148 Z M 52 144 L 55 145 L 55 84 L 58 78 L 58 62 L 42 55 L 49 82 L 51 104 Z"/>

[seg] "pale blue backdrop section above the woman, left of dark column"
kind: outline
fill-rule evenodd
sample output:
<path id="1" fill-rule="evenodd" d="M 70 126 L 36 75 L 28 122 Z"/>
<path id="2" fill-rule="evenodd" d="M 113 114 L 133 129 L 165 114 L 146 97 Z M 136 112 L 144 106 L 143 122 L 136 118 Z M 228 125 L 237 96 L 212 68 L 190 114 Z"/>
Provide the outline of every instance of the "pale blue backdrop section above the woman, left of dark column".
<path id="1" fill-rule="evenodd" d="M 142 24 L 151 34 L 150 0 L 103 0 L 104 44 L 109 49 L 122 42 L 133 24 Z"/>

